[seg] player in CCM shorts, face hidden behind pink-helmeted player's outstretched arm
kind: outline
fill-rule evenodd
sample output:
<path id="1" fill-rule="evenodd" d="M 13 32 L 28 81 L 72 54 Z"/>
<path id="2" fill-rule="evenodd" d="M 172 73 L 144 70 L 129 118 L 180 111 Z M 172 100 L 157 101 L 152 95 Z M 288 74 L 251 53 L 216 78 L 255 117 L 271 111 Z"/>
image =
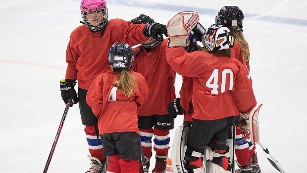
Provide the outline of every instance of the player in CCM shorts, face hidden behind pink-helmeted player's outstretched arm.
<path id="1" fill-rule="evenodd" d="M 148 24 L 154 22 L 152 18 L 141 14 L 132 23 Z M 150 38 L 135 48 L 135 62 L 133 70 L 143 74 L 148 86 L 149 95 L 143 107 L 139 110 L 139 130 L 141 143 L 147 166 L 152 155 L 152 137 L 154 135 L 153 150 L 155 151 L 155 166 L 153 173 L 164 173 L 169 149 L 169 130 L 174 128 L 174 119 L 167 114 L 167 104 L 174 100 L 175 71 L 167 64 L 165 49 L 167 40 L 159 41 Z M 144 173 L 140 163 L 139 173 Z"/>

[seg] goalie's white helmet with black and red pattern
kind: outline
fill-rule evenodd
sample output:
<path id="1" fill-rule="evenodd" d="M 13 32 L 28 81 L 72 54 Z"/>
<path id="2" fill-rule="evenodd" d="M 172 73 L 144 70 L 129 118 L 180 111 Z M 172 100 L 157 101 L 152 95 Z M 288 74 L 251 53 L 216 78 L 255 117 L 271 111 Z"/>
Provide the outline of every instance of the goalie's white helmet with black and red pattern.
<path id="1" fill-rule="evenodd" d="M 223 25 L 213 24 L 205 31 L 203 45 L 209 53 L 229 49 L 234 45 L 234 37 L 229 28 Z"/>

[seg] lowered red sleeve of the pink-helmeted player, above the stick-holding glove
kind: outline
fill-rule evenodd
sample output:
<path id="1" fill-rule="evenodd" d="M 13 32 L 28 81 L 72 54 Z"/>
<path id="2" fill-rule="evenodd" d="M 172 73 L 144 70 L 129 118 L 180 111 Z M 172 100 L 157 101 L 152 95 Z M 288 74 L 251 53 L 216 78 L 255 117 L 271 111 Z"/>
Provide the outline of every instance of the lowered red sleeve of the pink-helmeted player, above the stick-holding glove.
<path id="1" fill-rule="evenodd" d="M 73 33 L 70 35 L 70 40 L 66 49 L 66 62 L 68 64 L 65 75 L 66 79 L 77 79 L 76 64 L 79 59 L 79 55 L 71 46 L 72 38 L 73 38 Z"/>

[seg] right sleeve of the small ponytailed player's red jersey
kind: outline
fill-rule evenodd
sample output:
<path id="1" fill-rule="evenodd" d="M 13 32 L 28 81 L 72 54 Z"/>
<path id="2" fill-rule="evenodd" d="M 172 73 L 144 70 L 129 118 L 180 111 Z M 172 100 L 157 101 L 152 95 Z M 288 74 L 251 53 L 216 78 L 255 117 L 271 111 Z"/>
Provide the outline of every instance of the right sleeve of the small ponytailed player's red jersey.
<path id="1" fill-rule="evenodd" d="M 143 75 L 136 72 L 134 72 L 134 74 L 138 80 L 138 85 L 135 89 L 135 102 L 137 103 L 138 109 L 140 109 L 147 99 L 149 89 Z"/>

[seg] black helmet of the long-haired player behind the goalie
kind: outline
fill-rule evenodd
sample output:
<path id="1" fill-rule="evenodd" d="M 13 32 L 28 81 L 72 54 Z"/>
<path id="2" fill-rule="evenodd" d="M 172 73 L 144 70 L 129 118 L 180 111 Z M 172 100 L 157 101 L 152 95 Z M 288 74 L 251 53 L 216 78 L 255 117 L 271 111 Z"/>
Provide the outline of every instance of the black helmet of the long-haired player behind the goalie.
<path id="1" fill-rule="evenodd" d="M 242 30 L 244 15 L 238 6 L 223 6 L 215 17 L 215 23 L 231 30 Z"/>

